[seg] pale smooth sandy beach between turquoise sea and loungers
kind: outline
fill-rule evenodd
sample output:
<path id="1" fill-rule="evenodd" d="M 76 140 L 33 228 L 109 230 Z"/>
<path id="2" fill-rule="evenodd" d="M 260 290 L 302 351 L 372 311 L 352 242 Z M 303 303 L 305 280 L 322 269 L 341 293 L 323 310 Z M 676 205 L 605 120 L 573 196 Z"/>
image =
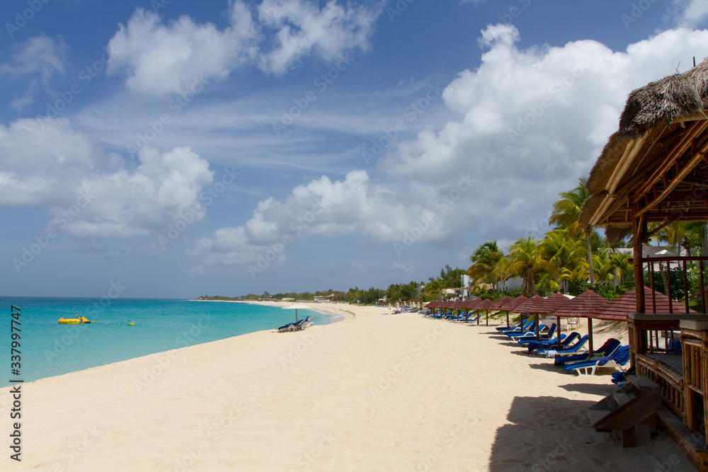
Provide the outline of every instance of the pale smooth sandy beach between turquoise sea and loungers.
<path id="1" fill-rule="evenodd" d="M 560 374 L 496 322 L 313 306 L 356 316 L 23 384 L 22 461 L 5 446 L 0 469 L 692 470 L 665 433 L 622 449 L 592 430 L 609 375 Z M 1 388 L 6 441 L 10 408 Z"/>

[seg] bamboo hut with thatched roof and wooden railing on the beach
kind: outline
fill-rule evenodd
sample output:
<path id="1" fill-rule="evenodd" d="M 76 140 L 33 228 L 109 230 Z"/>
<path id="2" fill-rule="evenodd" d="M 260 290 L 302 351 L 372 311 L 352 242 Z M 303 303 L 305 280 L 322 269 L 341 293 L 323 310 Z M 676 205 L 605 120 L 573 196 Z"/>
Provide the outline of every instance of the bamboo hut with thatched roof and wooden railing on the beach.
<path id="1" fill-rule="evenodd" d="M 629 94 L 619 129 L 590 172 L 586 184 L 590 197 L 580 217 L 581 224 L 606 226 L 610 243 L 629 234 L 634 239 L 636 314 L 627 322 L 632 362 L 637 373 L 661 387 L 668 408 L 656 409 L 655 417 L 701 470 L 708 470 L 705 434 L 699 432 L 699 425 L 708 426 L 708 413 L 704 413 L 708 412 L 708 316 L 687 313 L 690 297 L 700 297 L 705 306 L 702 274 L 697 294 L 689 294 L 687 269 L 689 263 L 707 258 L 651 259 L 678 262 L 683 269 L 683 294 L 666 295 L 685 300 L 685 306 L 672 302 L 668 313 L 661 313 L 644 297 L 641 246 L 673 221 L 708 220 L 707 154 L 708 61 L 704 61 L 685 74 L 665 77 Z M 650 230 L 649 223 L 656 228 Z M 651 286 L 652 262 L 649 275 Z M 683 347 L 680 367 L 668 362 L 668 357 L 650 357 L 647 352 L 647 340 L 670 330 L 677 321 Z M 694 440 L 696 434 L 699 442 Z"/>

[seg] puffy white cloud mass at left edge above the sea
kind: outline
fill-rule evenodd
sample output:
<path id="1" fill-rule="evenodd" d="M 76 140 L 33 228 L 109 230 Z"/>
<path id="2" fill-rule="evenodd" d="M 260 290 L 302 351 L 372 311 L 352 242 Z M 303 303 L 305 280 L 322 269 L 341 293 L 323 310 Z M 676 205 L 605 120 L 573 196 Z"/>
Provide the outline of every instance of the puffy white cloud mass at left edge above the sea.
<path id="1" fill-rule="evenodd" d="M 163 154 L 146 146 L 134 166 L 104 154 L 65 118 L 0 125 L 0 156 L 0 205 L 45 207 L 55 230 L 76 236 L 152 234 L 186 212 L 199 220 L 200 193 L 213 177 L 188 146 Z"/>

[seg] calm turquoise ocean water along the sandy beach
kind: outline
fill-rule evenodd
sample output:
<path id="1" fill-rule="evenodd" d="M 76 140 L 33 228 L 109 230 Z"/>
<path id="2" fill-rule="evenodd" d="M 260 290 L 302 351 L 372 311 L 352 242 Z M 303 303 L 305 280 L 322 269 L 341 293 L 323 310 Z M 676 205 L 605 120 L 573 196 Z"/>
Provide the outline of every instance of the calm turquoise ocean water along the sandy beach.
<path id="1" fill-rule="evenodd" d="M 11 372 L 11 306 L 21 313 L 18 376 Z M 96 323 L 57 322 L 76 313 Z M 314 316 L 317 325 L 341 319 L 311 310 L 297 310 L 297 316 Z M 0 320 L 0 386 L 8 386 L 12 379 L 28 382 L 272 330 L 295 321 L 295 310 L 219 301 L 0 297 Z"/>

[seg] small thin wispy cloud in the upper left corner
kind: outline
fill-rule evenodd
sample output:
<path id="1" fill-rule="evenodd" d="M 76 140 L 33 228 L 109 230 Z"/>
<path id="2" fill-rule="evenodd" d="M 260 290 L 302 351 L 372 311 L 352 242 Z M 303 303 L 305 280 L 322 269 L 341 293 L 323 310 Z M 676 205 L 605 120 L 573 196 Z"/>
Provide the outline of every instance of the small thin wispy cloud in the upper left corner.
<path id="1" fill-rule="evenodd" d="M 34 102 L 40 84 L 51 93 L 52 76 L 67 73 L 69 47 L 62 38 L 54 40 L 40 35 L 13 45 L 13 51 L 11 62 L 0 64 L 0 74 L 29 82 L 24 95 L 10 104 L 11 108 L 21 110 Z"/>

